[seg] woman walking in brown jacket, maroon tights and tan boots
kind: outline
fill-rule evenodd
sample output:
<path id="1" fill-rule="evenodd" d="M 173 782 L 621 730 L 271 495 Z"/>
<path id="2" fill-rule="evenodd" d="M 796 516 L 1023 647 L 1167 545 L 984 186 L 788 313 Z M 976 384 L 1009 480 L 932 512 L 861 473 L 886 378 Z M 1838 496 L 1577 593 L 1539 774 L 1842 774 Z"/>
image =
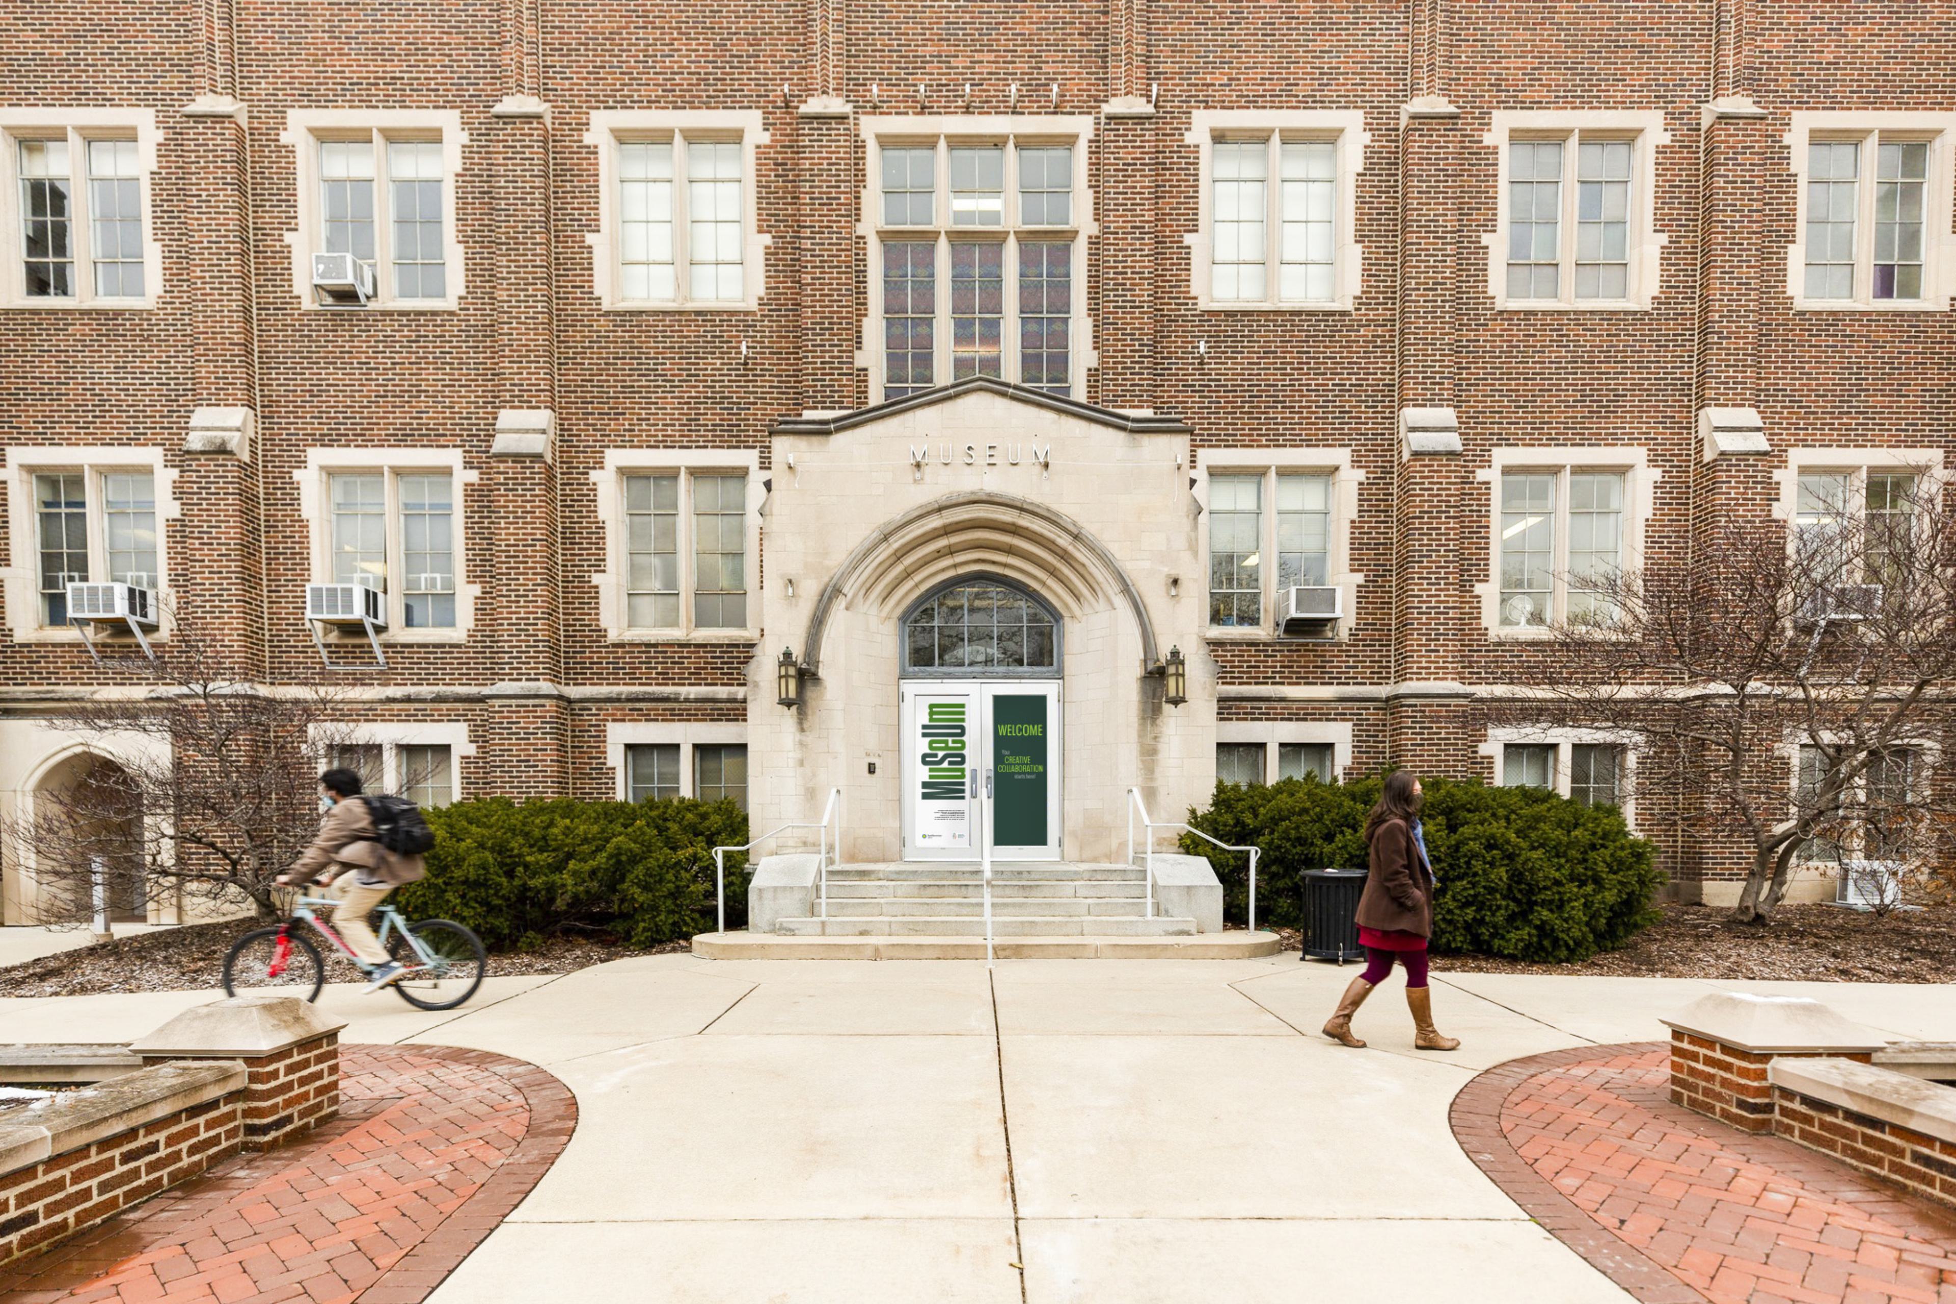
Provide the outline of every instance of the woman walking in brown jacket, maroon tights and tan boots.
<path id="1" fill-rule="evenodd" d="M 1385 792 L 1365 817 L 1371 868 L 1357 899 L 1357 940 L 1365 946 L 1365 972 L 1352 979 L 1324 1036 L 1363 1046 L 1352 1034 L 1352 1015 L 1371 989 L 1406 966 L 1406 1005 L 1412 1007 L 1414 1050 L 1457 1050 L 1459 1042 L 1434 1026 L 1434 995 L 1426 987 L 1426 940 L 1434 935 L 1434 866 L 1420 829 L 1420 780 L 1412 770 L 1385 776 Z"/>

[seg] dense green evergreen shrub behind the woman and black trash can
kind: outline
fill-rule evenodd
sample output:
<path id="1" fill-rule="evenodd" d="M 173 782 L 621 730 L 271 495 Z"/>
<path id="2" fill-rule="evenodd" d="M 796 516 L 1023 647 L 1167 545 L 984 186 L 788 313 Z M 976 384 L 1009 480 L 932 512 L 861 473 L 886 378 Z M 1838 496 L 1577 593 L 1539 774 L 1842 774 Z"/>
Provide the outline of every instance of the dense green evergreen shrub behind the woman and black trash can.
<path id="1" fill-rule="evenodd" d="M 1489 788 L 1422 778 L 1420 823 L 1438 874 L 1434 950 L 1563 964 L 1616 950 L 1657 919 L 1663 874 L 1651 845 L 1608 805 L 1578 805 L 1541 788 Z M 1365 813 L 1383 776 L 1217 784 L 1189 823 L 1238 847 L 1262 847 L 1258 923 L 1301 929 L 1305 870 L 1365 868 Z M 1183 835 L 1222 880 L 1224 917 L 1248 913 L 1248 856 Z"/>

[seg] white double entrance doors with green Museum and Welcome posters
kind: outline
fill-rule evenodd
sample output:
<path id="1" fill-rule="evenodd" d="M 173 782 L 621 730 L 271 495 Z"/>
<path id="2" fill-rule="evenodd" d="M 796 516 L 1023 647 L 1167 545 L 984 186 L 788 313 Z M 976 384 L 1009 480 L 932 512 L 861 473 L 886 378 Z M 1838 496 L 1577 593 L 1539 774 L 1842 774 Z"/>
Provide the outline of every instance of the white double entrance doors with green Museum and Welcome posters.
<path id="1" fill-rule="evenodd" d="M 904 858 L 1060 858 L 1060 684 L 911 680 Z"/>

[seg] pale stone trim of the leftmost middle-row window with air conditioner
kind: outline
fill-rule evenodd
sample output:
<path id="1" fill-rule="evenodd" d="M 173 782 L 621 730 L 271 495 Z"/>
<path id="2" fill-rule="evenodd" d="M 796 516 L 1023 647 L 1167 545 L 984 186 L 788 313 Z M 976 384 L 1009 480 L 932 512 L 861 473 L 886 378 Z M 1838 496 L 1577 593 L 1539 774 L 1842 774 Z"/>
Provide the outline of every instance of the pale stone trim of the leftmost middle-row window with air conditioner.
<path id="1" fill-rule="evenodd" d="M 102 477 L 113 471 L 141 471 L 153 477 L 156 493 L 156 631 L 151 641 L 170 637 L 176 628 L 174 590 L 170 577 L 168 522 L 182 518 L 184 504 L 176 499 L 176 469 L 164 463 L 160 448 L 59 448 L 14 446 L 6 450 L 8 493 L 8 555 L 12 565 L 0 567 L 6 590 L 8 626 L 18 643 L 80 643 L 74 626 L 43 626 L 39 596 L 39 512 L 33 506 L 33 477 L 51 471 L 74 471 L 88 481 L 88 553 L 90 579 L 102 557 Z M 104 577 L 106 579 L 106 577 Z"/>

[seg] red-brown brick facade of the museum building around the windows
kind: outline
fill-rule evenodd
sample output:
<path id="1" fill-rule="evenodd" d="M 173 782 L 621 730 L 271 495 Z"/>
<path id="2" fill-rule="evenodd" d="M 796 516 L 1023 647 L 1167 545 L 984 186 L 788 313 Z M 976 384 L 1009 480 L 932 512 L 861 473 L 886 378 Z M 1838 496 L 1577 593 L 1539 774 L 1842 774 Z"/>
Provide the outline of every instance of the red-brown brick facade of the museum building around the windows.
<path id="1" fill-rule="evenodd" d="M 1647 553 L 1684 565 L 1694 536 L 1764 514 L 1784 450 L 1931 446 L 1956 452 L 1956 325 L 1948 313 L 1794 313 L 1784 248 L 1796 180 L 1784 135 L 1796 109 L 1948 109 L 1956 10 L 1846 0 L 1712 6 L 1657 0 L 706 0 L 624 16 L 597 0 L 321 6 L 317 0 L 29 0 L 0 12 L 0 80 L 14 104 L 153 108 L 153 186 L 164 293 L 155 311 L 0 313 L 6 444 L 133 444 L 182 467 L 184 514 L 166 524 L 184 612 L 274 680 L 319 659 L 299 620 L 309 579 L 293 471 L 309 448 L 460 448 L 467 581 L 481 587 L 462 645 L 389 647 L 387 671 L 338 674 L 352 717 L 469 725 L 464 792 L 610 796 L 604 723 L 739 719 L 675 690 L 737 688 L 747 643 L 618 643 L 589 577 L 606 571 L 591 471 L 612 448 L 757 450 L 769 422 L 868 399 L 855 366 L 868 307 L 855 203 L 865 152 L 855 117 L 802 117 L 814 96 L 865 111 L 1091 113 L 1156 100 L 1150 117 L 1101 117 L 1089 147 L 1099 235 L 1084 293 L 1099 368 L 1086 395 L 1174 413 L 1195 446 L 1350 448 L 1365 471 L 1352 569 L 1365 575 L 1334 643 L 1215 643 L 1222 682 L 1363 688 L 1328 706 L 1224 704 L 1224 719 L 1354 723 L 1359 768 L 1385 762 L 1487 776 L 1485 727 L 1463 698 L 1389 694 L 1402 680 L 1500 684 L 1549 667 L 1489 639 L 1473 585 L 1489 579 L 1494 448 L 1620 444 L 1663 473 Z M 1715 18 L 1715 22 L 1713 22 Z M 1743 20 L 1743 22 L 1739 22 Z M 115 39 L 104 39 L 113 31 Z M 870 98 L 880 88 L 882 106 Z M 923 106 L 917 106 L 917 86 Z M 1052 86 L 1058 88 L 1056 102 Z M 786 88 L 786 94 L 782 94 Z M 1156 94 L 1158 88 L 1158 94 Z M 235 119 L 186 117 L 233 94 Z M 499 119 L 532 94 L 548 121 Z M 1704 125 L 1713 96 L 1747 94 L 1760 121 Z M 1414 96 L 1455 119 L 1404 121 Z M 301 311 L 286 235 L 295 227 L 301 108 L 454 109 L 467 133 L 454 205 L 467 250 L 452 313 Z M 763 115 L 759 227 L 771 237 L 753 313 L 606 313 L 591 285 L 599 109 L 743 109 Z M 1344 313 L 1217 313 L 1189 295 L 1197 221 L 1191 113 L 1209 108 L 1359 109 L 1363 287 Z M 1659 111 L 1655 154 L 1663 283 L 1647 311 L 1508 313 L 1487 293 L 1483 237 L 1496 223 L 1498 109 Z M 741 360 L 741 342 L 749 346 Z M 1207 354 L 1197 352 L 1207 346 Z M 180 454 L 196 405 L 256 409 L 246 463 Z M 1694 413 L 1751 403 L 1774 454 L 1704 467 Z M 1463 454 L 1402 463 L 1397 411 L 1451 405 Z M 495 413 L 557 414 L 550 465 L 489 457 Z M 0 565 L 6 555 L 0 497 Z M 759 559 L 757 559 L 759 563 Z M 778 639 L 769 633 L 773 647 Z M 348 647 L 346 655 L 358 655 Z M 22 710 L 106 682 L 86 653 L 16 645 L 0 676 Z M 546 684 L 491 696 L 495 684 Z M 604 690 L 602 706 L 575 696 Z M 33 694 L 39 690 L 41 698 Z M 1698 843 L 1639 809 L 1686 876 L 1737 876 L 1731 839 Z"/>

